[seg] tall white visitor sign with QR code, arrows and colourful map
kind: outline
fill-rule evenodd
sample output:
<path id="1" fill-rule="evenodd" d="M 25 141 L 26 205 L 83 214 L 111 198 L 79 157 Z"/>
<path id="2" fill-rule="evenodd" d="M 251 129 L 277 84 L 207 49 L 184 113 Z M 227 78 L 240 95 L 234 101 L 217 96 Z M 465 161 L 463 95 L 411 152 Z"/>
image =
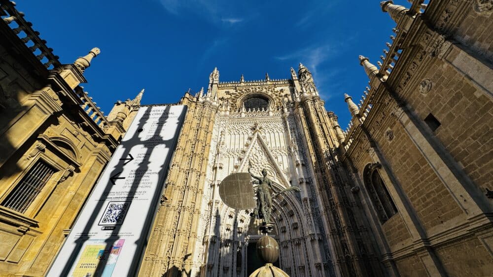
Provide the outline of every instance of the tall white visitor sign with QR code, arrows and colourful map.
<path id="1" fill-rule="evenodd" d="M 80 212 L 48 276 L 133 276 L 186 106 L 141 107 Z"/>

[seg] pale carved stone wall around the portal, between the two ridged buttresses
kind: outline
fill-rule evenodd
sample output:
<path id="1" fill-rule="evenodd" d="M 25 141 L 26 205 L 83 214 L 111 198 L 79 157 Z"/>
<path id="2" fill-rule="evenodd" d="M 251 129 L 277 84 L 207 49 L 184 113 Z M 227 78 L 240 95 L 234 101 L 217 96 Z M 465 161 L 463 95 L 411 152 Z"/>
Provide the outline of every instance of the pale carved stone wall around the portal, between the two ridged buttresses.
<path id="1" fill-rule="evenodd" d="M 281 247 L 280 266 L 290 276 L 319 276 L 332 268 L 325 237 L 319 232 L 317 199 L 312 195 L 314 173 L 306 167 L 306 149 L 300 137 L 297 116 L 290 102 L 293 88 L 283 84 L 256 86 L 219 86 L 224 103 L 230 101 L 228 112 L 219 109 L 215 119 L 206 185 L 197 230 L 198 239 L 193 254 L 192 276 L 247 276 L 247 245 L 260 237 L 251 211 L 235 211 L 224 205 L 218 195 L 218 185 L 234 172 L 259 175 L 265 168 L 277 190 L 296 185 L 301 193 L 285 193 L 273 198 L 275 234 Z M 270 105 L 278 105 L 276 113 L 248 112 L 237 109 L 250 94 L 263 95 Z M 221 105 L 221 104 L 219 104 Z M 283 111 L 282 107 L 286 107 Z M 288 109 L 289 107 L 289 109 Z M 221 115 L 222 113 L 222 115 Z M 300 143 L 301 142 L 301 143 Z M 308 203 L 310 202 L 310 204 Z M 243 261 L 238 262 L 235 253 Z M 236 265 L 243 264 L 237 270 Z M 318 266 L 316 266 L 318 265 Z M 322 266 L 323 265 L 323 266 Z M 324 268 L 324 269 L 322 269 Z M 318 273 L 317 273 L 318 272 Z"/>

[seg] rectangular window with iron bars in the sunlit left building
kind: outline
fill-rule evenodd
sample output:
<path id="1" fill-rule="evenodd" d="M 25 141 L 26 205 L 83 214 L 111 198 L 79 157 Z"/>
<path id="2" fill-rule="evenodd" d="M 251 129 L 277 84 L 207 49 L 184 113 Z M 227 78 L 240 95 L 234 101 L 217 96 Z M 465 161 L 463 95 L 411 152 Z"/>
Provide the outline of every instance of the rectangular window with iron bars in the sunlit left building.
<path id="1" fill-rule="evenodd" d="M 19 213 L 25 213 L 54 172 L 53 167 L 38 160 L 1 205 Z"/>

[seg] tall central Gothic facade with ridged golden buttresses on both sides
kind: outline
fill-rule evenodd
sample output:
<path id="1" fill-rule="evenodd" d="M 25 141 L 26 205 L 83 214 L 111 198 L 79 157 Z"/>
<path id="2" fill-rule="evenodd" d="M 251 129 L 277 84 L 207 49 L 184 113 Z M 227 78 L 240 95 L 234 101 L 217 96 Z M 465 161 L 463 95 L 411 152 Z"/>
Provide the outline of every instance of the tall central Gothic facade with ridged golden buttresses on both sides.
<path id="1" fill-rule="evenodd" d="M 142 275 L 163 274 L 156 259 L 171 271 L 184 266 L 191 276 L 248 276 L 256 269 L 248 266 L 260 238 L 252 211 L 226 206 L 218 186 L 231 173 L 251 169 L 259 175 L 264 168 L 276 190 L 301 188 L 273 198 L 280 267 L 287 274 L 335 276 L 343 270 L 352 276 L 378 268 L 370 234 L 358 228 L 366 223 L 356 221 L 363 212 L 350 204 L 349 176 L 333 152 L 339 146 L 336 118 L 326 112 L 304 65 L 290 75 L 220 83 L 214 69 L 207 92 L 182 98 L 189 111 Z M 343 228 L 348 224 L 354 228 Z M 356 263 L 352 251 L 363 253 Z M 339 257 L 343 262 L 335 268 Z"/>

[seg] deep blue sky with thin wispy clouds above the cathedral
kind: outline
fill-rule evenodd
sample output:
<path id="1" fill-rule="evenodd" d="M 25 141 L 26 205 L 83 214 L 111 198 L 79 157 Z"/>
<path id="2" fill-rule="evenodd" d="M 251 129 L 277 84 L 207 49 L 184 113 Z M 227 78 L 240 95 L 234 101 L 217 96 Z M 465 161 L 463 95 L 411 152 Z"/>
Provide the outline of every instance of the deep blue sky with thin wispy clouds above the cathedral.
<path id="1" fill-rule="evenodd" d="M 405 0 L 395 1 L 409 6 Z M 327 110 L 350 120 L 368 78 L 358 55 L 376 64 L 395 23 L 379 0 L 50 0 L 17 1 L 63 63 L 101 49 L 86 70 L 86 91 L 105 113 L 142 88 L 143 104 L 174 103 L 220 81 L 289 78 L 302 62 Z"/>

